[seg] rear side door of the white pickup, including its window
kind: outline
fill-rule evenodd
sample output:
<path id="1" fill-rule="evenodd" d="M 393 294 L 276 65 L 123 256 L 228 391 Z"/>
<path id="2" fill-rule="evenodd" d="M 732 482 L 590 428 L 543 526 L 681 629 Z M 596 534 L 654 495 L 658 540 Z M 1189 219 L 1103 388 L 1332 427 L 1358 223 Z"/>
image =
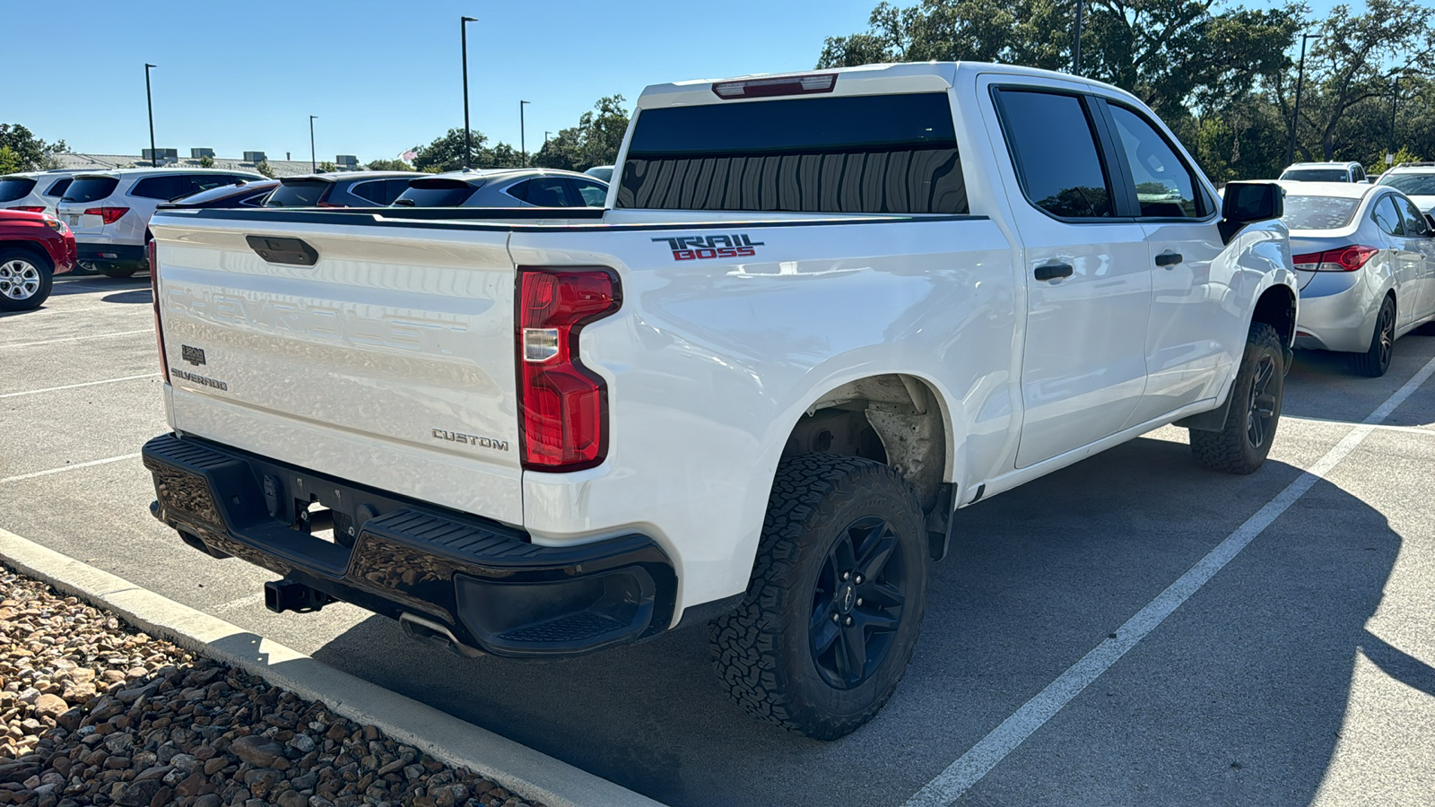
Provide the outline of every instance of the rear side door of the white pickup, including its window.
<path id="1" fill-rule="evenodd" d="M 1023 86 L 994 95 L 1025 247 L 1025 468 L 1126 425 L 1147 381 L 1151 261 L 1141 224 L 1116 215 L 1095 99 Z"/>

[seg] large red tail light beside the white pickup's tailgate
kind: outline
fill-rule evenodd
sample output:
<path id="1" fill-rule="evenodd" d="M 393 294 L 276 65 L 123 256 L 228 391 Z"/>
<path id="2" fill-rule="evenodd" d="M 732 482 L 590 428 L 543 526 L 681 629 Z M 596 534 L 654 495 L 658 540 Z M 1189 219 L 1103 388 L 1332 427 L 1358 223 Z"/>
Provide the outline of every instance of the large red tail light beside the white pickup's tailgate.
<path id="1" fill-rule="evenodd" d="M 578 360 L 578 332 L 618 310 L 608 269 L 518 267 L 518 409 L 524 468 L 578 471 L 607 457 L 608 389 Z"/>

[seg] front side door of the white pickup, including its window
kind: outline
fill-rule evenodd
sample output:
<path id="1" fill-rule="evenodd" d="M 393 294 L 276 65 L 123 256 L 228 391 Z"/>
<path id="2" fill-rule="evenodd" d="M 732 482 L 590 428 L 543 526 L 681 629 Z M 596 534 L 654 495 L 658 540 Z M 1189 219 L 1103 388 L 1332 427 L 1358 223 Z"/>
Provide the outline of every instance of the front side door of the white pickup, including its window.
<path id="1" fill-rule="evenodd" d="M 1141 221 L 1152 273 L 1147 392 L 1128 424 L 1137 425 L 1221 393 L 1231 363 L 1223 335 L 1244 336 L 1244 310 L 1228 304 L 1237 253 L 1223 257 L 1220 210 L 1198 174 L 1145 113 L 1099 106 L 1129 178 L 1116 207 Z"/>

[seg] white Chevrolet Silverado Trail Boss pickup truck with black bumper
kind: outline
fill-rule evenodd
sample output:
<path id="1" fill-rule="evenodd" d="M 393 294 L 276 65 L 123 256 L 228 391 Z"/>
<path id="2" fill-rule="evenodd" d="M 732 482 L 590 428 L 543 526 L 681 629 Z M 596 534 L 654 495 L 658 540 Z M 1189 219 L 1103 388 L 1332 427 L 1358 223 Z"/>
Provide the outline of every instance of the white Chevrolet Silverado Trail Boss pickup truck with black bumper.
<path id="1" fill-rule="evenodd" d="M 1157 426 L 1254 471 L 1281 197 L 999 65 L 651 86 L 603 210 L 172 210 L 152 511 L 461 653 L 709 623 L 755 715 L 883 706 L 956 510 Z M 561 217 L 561 218 L 560 218 Z"/>

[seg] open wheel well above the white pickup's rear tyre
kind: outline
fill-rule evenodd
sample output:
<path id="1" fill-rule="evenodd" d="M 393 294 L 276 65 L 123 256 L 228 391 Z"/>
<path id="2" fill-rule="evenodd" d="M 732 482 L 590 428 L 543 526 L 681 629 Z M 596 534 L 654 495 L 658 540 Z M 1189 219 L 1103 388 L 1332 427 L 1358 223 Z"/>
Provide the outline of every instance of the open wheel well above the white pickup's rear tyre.
<path id="1" fill-rule="evenodd" d="M 801 454 L 842 454 L 891 465 L 916 488 L 923 510 L 946 520 L 947 513 L 937 507 L 950 497 L 950 485 L 943 484 L 946 422 L 936 392 L 916 376 L 877 375 L 822 395 L 782 447 L 784 458 Z"/>

